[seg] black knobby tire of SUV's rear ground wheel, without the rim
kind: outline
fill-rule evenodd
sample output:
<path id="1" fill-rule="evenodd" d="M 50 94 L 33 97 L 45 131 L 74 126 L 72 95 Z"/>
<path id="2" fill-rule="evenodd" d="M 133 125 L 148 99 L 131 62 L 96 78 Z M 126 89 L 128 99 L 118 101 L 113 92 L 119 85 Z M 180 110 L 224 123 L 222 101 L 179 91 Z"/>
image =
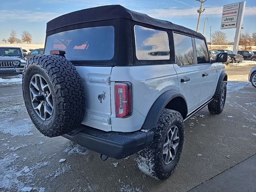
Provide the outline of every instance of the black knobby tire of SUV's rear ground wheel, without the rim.
<path id="1" fill-rule="evenodd" d="M 177 146 L 178 150 L 174 160 L 172 160 L 170 164 L 166 165 L 163 159 L 164 140 L 168 130 L 170 130 L 172 126 L 178 127 L 180 140 Z M 174 110 L 164 109 L 158 120 L 157 127 L 154 129 L 154 137 L 152 143 L 150 146 L 137 153 L 135 160 L 138 164 L 138 167 L 145 174 L 158 180 L 164 180 L 168 178 L 180 160 L 183 141 L 184 122 L 181 114 Z"/>

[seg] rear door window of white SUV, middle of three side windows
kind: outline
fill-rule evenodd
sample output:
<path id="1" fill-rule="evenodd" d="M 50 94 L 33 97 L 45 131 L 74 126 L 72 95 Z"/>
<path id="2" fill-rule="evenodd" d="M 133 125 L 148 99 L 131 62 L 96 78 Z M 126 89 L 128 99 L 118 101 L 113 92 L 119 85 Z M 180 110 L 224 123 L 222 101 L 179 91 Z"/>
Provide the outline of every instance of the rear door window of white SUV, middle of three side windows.
<path id="1" fill-rule="evenodd" d="M 186 35 L 173 33 L 175 58 L 178 65 L 193 65 L 194 52 L 192 38 Z"/>

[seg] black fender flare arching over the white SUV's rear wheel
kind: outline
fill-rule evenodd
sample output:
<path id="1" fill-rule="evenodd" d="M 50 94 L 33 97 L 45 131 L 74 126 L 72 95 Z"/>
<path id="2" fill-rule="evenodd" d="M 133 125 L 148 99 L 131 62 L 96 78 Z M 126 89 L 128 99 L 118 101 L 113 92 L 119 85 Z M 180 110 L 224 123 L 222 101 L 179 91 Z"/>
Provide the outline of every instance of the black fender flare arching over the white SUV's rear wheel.
<path id="1" fill-rule="evenodd" d="M 164 107 L 174 98 L 182 97 L 186 102 L 186 107 L 188 108 L 186 98 L 175 90 L 168 90 L 160 95 L 154 104 L 151 106 L 148 115 L 142 125 L 142 129 L 153 129 L 156 128 L 158 119 L 164 110 Z"/>

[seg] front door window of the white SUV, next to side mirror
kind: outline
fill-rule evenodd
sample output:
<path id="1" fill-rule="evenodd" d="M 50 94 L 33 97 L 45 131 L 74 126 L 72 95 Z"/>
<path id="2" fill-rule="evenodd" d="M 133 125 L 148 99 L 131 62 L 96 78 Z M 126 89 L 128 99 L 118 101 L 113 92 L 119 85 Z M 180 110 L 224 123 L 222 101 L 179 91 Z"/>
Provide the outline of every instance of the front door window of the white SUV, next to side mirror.
<path id="1" fill-rule="evenodd" d="M 209 54 L 204 40 L 195 38 L 197 63 L 209 63 Z"/>

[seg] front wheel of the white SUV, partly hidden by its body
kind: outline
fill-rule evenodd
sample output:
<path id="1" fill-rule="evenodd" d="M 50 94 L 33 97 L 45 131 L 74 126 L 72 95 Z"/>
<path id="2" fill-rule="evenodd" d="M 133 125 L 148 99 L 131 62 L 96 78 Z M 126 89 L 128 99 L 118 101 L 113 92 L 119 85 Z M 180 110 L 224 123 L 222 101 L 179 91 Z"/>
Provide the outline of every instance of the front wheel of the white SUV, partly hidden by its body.
<path id="1" fill-rule="evenodd" d="M 211 113 L 220 114 L 223 111 L 224 106 L 225 106 L 225 102 L 226 102 L 226 94 L 227 94 L 227 82 L 226 81 L 222 81 L 221 87 L 220 87 L 220 91 L 214 97 L 214 100 L 212 100 L 208 104 L 208 110 Z M 224 96 L 224 100 L 223 100 L 223 96 Z"/>

